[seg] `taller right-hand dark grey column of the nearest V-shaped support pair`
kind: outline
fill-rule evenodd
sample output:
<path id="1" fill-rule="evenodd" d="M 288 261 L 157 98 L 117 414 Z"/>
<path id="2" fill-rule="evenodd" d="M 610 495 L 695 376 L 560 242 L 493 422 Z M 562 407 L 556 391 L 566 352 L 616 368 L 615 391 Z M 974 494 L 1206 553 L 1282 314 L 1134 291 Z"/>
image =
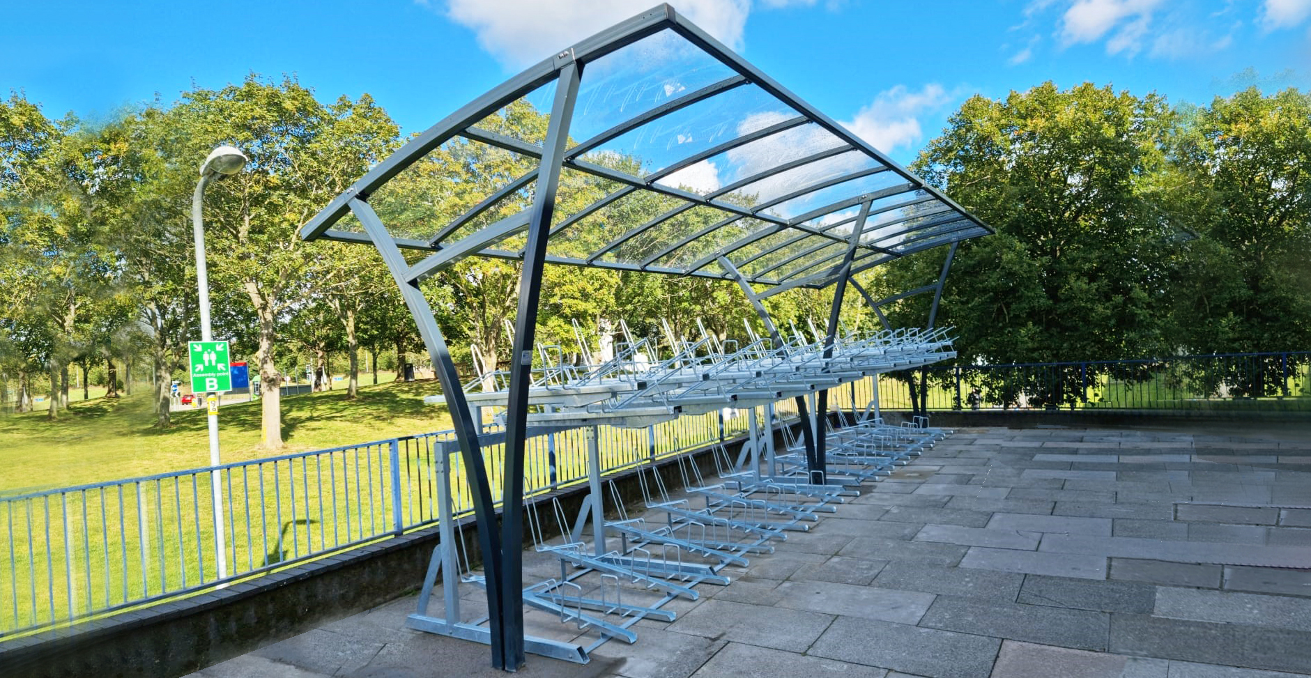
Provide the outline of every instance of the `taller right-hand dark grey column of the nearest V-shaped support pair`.
<path id="1" fill-rule="evenodd" d="M 528 222 L 528 239 L 523 248 L 523 271 L 519 277 L 519 309 L 515 315 L 514 351 L 510 354 L 510 397 L 505 422 L 505 477 L 502 484 L 501 616 L 505 624 L 503 660 L 497 666 L 517 670 L 523 666 L 523 458 L 528 422 L 528 388 L 532 384 L 532 345 L 538 328 L 538 300 L 541 296 L 541 269 L 547 258 L 547 236 L 556 207 L 560 167 L 569 140 L 569 122 L 578 97 L 579 64 L 573 52 L 557 58 L 560 77 L 556 81 L 551 122 L 543 144 L 541 164 Z M 480 523 L 481 525 L 481 523 Z M 490 582 L 489 582 L 490 585 Z M 490 602 L 490 601 L 489 601 Z"/>

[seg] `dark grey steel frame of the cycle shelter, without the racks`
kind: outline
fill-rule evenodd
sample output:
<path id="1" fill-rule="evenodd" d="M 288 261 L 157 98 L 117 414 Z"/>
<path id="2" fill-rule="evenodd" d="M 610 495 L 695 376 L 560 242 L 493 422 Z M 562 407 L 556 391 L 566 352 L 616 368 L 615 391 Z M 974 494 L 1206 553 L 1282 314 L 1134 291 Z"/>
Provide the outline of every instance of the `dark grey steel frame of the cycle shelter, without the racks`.
<path id="1" fill-rule="evenodd" d="M 621 125 L 602 132 L 593 139 L 582 142 L 573 150 L 566 150 L 569 123 L 573 118 L 573 108 L 577 100 L 579 77 L 583 67 L 595 59 L 599 59 L 607 54 L 629 46 L 642 38 L 654 35 L 657 33 L 670 30 L 676 33 L 682 38 L 687 39 L 691 45 L 696 46 L 704 51 L 711 58 L 725 64 L 730 70 L 735 71 L 738 75 L 725 79 L 720 83 L 714 83 L 705 88 L 701 88 L 690 94 L 684 94 L 676 100 L 667 101 L 653 109 L 650 111 L 642 113 L 633 119 L 629 119 Z M 496 113 L 501 108 L 509 105 L 510 102 L 518 100 L 519 97 L 543 87 L 551 81 L 556 81 L 556 92 L 552 104 L 552 115 L 549 121 L 549 127 L 547 138 L 543 146 L 538 147 L 518 139 L 511 139 L 509 136 L 498 135 L 486 130 L 479 130 L 473 127 L 475 123 L 486 118 L 488 115 Z M 734 139 L 725 144 L 720 144 L 714 148 L 705 150 L 696 156 L 684 159 L 669 168 L 665 168 L 657 173 L 648 174 L 646 177 L 631 177 L 617 170 L 600 167 L 594 163 L 582 160 L 581 156 L 587 148 L 593 148 L 606 143 L 610 139 L 617 138 L 619 135 L 638 127 L 642 123 L 650 122 L 659 115 L 669 114 L 674 110 L 691 105 L 696 101 L 701 101 L 720 92 L 726 92 L 729 89 L 754 84 L 763 89 L 764 92 L 776 97 L 784 105 L 791 106 L 801 115 L 783 121 L 764 130 L 758 130 L 750 135 Z M 817 125 L 826 130 L 827 132 L 835 135 L 843 142 L 843 146 L 838 148 L 830 148 L 822 152 L 813 153 L 809 157 L 802 157 L 793 160 L 785 165 L 773 168 L 767 173 L 760 173 L 753 177 L 745 177 L 729 186 L 724 186 L 720 190 L 709 195 L 699 195 L 696 193 L 671 189 L 667 186 L 654 184 L 661 177 L 669 176 L 670 173 L 688 167 L 701 159 L 711 157 L 714 153 L 724 152 L 734 146 L 741 146 L 755 139 L 764 138 L 770 134 L 776 134 L 787 129 L 792 129 L 800 125 Z M 439 233 L 435 233 L 429 240 L 417 239 L 397 239 L 388 232 L 387 227 L 383 224 L 382 219 L 368 205 L 368 198 L 379 188 L 387 184 L 392 177 L 404 170 L 410 164 L 416 163 L 430 151 L 438 148 L 439 146 L 447 143 L 455 136 L 463 136 L 471 140 L 481 142 L 485 144 L 492 144 L 501 147 L 515 153 L 520 153 L 528 157 L 536 157 L 540 160 L 536 170 L 528 172 L 527 174 L 514 180 L 510 185 L 505 186 L 493 195 L 489 195 L 485 201 L 467 211 L 464 215 L 459 216 L 455 222 L 443 228 Z M 827 180 L 818 182 L 815 185 L 808 186 L 804 190 L 789 193 L 783 199 L 773 199 L 762 206 L 753 209 L 742 207 L 734 203 L 724 202 L 720 195 L 724 195 L 737 188 L 749 185 L 753 181 L 758 181 L 767 174 L 785 172 L 797 167 L 802 167 L 808 163 L 814 163 L 825 157 L 831 157 L 843 152 L 864 153 L 874 160 L 877 160 L 882 167 L 877 169 L 863 169 L 859 172 L 848 173 L 843 177 Z M 556 227 L 555 231 L 551 228 L 552 216 L 555 211 L 556 189 L 560 180 L 560 173 L 564 168 L 581 170 L 597 177 L 616 181 L 624 185 L 610 195 L 597 201 L 591 206 L 582 210 L 582 212 L 576 214 Z M 864 176 L 871 176 L 878 172 L 893 172 L 905 180 L 905 184 L 899 184 L 890 189 L 882 189 L 874 193 L 867 193 L 861 195 L 853 195 L 844 201 L 838 201 L 817 210 L 812 210 L 806 214 L 797 215 L 791 219 L 784 219 L 777 215 L 767 214 L 764 210 L 784 199 L 793 199 L 800 195 L 805 195 L 809 191 L 821 190 L 825 188 L 840 185 L 843 181 L 855 180 Z M 486 226 L 465 239 L 444 245 L 443 240 L 455 232 L 461 224 L 469 223 L 473 218 L 481 214 L 484 210 L 490 207 L 501 197 L 509 195 L 517 190 L 526 188 L 527 185 L 536 182 L 535 198 L 532 207 L 520 212 L 518 215 L 502 219 L 492 226 Z M 608 205 L 632 191 L 648 190 L 658 194 L 670 195 L 674 198 L 680 198 L 687 201 L 687 206 L 682 209 L 670 210 L 665 215 L 652 219 L 645 224 L 629 231 L 621 239 L 612 241 L 606 245 L 600 252 L 593 253 L 586 258 L 574 257 L 560 257 L 547 254 L 547 241 L 553 232 L 566 228 L 568 226 L 576 223 L 586 214 L 591 214 L 595 210 Z M 910 194 L 912 199 L 898 203 L 891 207 L 895 209 L 903 206 L 912 206 L 920 202 L 937 201 L 944 210 L 935 210 L 932 216 L 937 216 L 943 212 L 953 212 L 954 216 L 935 219 L 933 226 L 937 227 L 929 233 L 920 233 L 910 240 L 903 240 L 891 247 L 878 247 L 876 244 L 867 244 L 860 241 L 860 233 L 864 228 L 864 222 L 871 214 L 871 206 L 874 201 L 897 195 L 897 194 Z M 619 247 L 624 240 L 633 237 L 646 228 L 652 228 L 662 223 L 667 218 L 691 209 L 696 205 L 705 205 L 716 207 L 729 216 L 709 228 L 703 228 L 696 233 L 692 233 L 673 247 L 665 248 L 661 253 L 654 257 L 648 257 L 641 264 L 628 264 L 616 261 L 598 261 L 598 257 L 603 256 L 606 252 L 615 247 Z M 830 224 L 827 227 L 814 227 L 808 224 L 812 219 L 832 214 L 839 210 L 859 206 L 861 210 L 861 216 L 853 222 L 852 233 L 842 236 L 832 232 L 835 226 Z M 347 214 L 354 214 L 359 223 L 363 226 L 364 232 L 349 232 L 334 229 L 333 226 Z M 911 215 L 907 219 L 914 219 L 919 215 Z M 926 219 L 931 216 L 926 215 Z M 687 247 L 695 240 L 713 232 L 714 228 L 728 226 L 739 219 L 755 219 L 772 227 L 762 228 L 759 232 L 751 233 L 739 239 L 728 247 L 718 248 L 716 252 L 700 257 L 697 261 L 688 266 L 657 266 L 656 262 L 659 258 L 669 256 L 678 248 Z M 906 222 L 907 219 L 902 219 Z M 839 223 L 852 223 L 851 220 L 844 220 Z M 888 226 L 888 224 L 881 224 Z M 750 244 L 768 237 L 770 235 L 783 232 L 784 229 L 793 229 L 805 236 L 817 239 L 818 243 L 827 244 L 844 244 L 844 253 L 840 257 L 840 262 L 834 265 L 832 258 L 821 258 L 818 261 L 810 261 L 800 269 L 793 269 L 783 271 L 781 277 L 766 277 L 764 274 L 756 275 L 743 275 L 738 266 L 735 266 L 729 258 L 734 252 L 749 247 Z M 907 227 L 899 233 L 899 236 L 911 236 L 915 233 L 918 227 Z M 527 231 L 527 243 L 524 248 L 519 252 L 501 250 L 496 249 L 493 245 L 518 233 Z M 813 287 L 822 289 L 829 285 L 839 283 L 838 294 L 835 295 L 835 303 L 832 312 L 830 313 L 829 323 L 829 338 L 827 342 L 831 346 L 832 334 L 836 327 L 836 313 L 840 308 L 842 290 L 844 290 L 846 283 L 853 282 L 852 275 L 867 270 L 878 264 L 890 261 L 891 258 L 906 256 L 923 249 L 929 249 L 941 244 L 958 243 L 962 239 L 973 237 L 978 235 L 990 233 L 991 229 L 979 222 L 977 218 L 970 215 L 962 207 L 952 202 L 947 195 L 941 194 L 932 186 L 924 184 L 923 180 L 911 174 L 905 168 L 894 163 L 893 160 L 884 156 L 881 152 L 871 147 L 868 143 L 848 132 L 843 126 L 832 121 L 831 118 L 823 115 L 806 102 L 797 98 L 794 94 L 784 89 L 781 85 L 775 83 L 772 79 L 758 71 L 755 67 L 745 62 L 741 56 L 733 54 L 725 46 L 718 43 L 716 39 L 711 38 L 701 29 L 696 28 L 686 18 L 679 16 L 669 5 L 659 5 L 652 10 L 644 12 L 628 21 L 617 24 L 616 26 L 604 30 L 589 39 L 585 39 L 573 47 L 558 52 L 556 56 L 543 60 L 536 66 L 530 67 L 524 72 L 511 77 L 506 83 L 498 85 L 490 92 L 482 94 L 481 97 L 473 100 L 465 106 L 460 108 L 447 118 L 442 119 L 433 127 L 427 129 L 422 134 L 408 142 L 401 150 L 399 150 L 392 156 L 383 160 L 380 164 L 374 167 L 362 178 L 355 181 L 350 189 L 343 191 L 341 195 L 334 198 L 324 210 L 315 215 L 300 231 L 300 235 L 305 240 L 315 239 L 328 239 L 338 240 L 346 243 L 367 243 L 372 244 L 382 253 L 388 270 L 396 279 L 401 289 L 401 294 L 405 303 L 418 325 L 420 334 L 423 338 L 425 346 L 433 359 L 433 365 L 437 370 L 438 378 L 442 383 L 442 389 L 450 407 L 451 418 L 454 421 L 454 428 L 456 431 L 458 442 L 460 446 L 460 454 L 464 459 L 465 467 L 472 469 L 469 481 L 473 490 L 475 513 L 479 522 L 479 546 L 482 551 L 484 570 L 486 574 L 486 591 L 488 591 L 488 608 L 489 608 L 489 626 L 490 626 L 490 645 L 492 645 L 492 664 L 496 668 L 514 670 L 523 665 L 524 661 L 524 645 L 523 645 L 523 595 L 522 595 L 522 568 L 520 568 L 520 552 L 523 543 L 523 467 L 524 467 L 524 441 L 527 437 L 532 435 L 534 431 L 527 428 L 527 403 L 528 403 L 528 379 L 531 370 L 531 355 L 534 345 L 534 332 L 538 319 L 538 300 L 540 294 L 541 270 L 548 262 L 555 264 L 572 264 L 572 265 L 591 265 L 599 268 L 610 268 L 617 270 L 641 270 L 652 273 L 670 273 L 679 275 L 696 275 L 708 277 L 718 279 L 735 279 L 747 294 L 747 298 L 755 306 L 762 320 L 766 321 L 767 327 L 771 328 L 771 336 L 775 337 L 776 342 L 781 342 L 781 336 L 773 328 L 772 321 L 770 321 L 768 313 L 764 306 L 760 303 L 762 299 L 780 291 L 785 291 L 796 287 Z M 783 247 L 788 247 L 796 243 L 797 239 L 788 240 L 784 244 L 779 244 L 767 252 L 762 252 L 758 256 L 764 256 L 771 252 L 776 252 Z M 434 252 L 427 258 L 420 261 L 416 265 L 409 265 L 401 253 L 401 249 L 420 249 Z M 810 252 L 818 252 L 822 248 L 814 248 Z M 860 250 L 864 253 L 857 254 Z M 523 270 L 519 282 L 519 307 L 518 316 L 515 321 L 515 340 L 513 351 L 513 366 L 510 378 L 510 393 L 506 410 L 506 430 L 505 430 L 505 473 L 503 473 L 503 487 L 502 487 L 502 522 L 499 527 L 497 526 L 496 509 L 493 505 L 490 484 L 488 481 L 486 473 L 482 466 L 481 449 L 482 442 L 480 439 L 480 424 L 476 422 L 471 414 L 468 403 L 464 399 L 461 389 L 459 374 L 456 372 L 454 361 L 451 359 L 450 350 L 442 337 L 442 333 L 437 325 L 433 316 L 431 307 L 423 298 L 418 289 L 418 283 L 440 270 L 444 266 L 459 261 L 467 256 L 486 256 L 486 257 L 501 257 L 511 260 L 522 260 Z M 802 254 L 802 257 L 809 254 Z M 793 257 L 797 258 L 797 257 Z M 705 271 L 709 264 L 718 261 L 725 269 L 725 273 Z M 787 262 L 785 262 L 787 264 Z M 772 270 L 777 270 L 780 266 L 775 266 Z M 945 269 L 944 269 L 945 275 Z M 767 286 L 767 290 L 756 292 L 753 285 Z M 939 282 L 939 290 L 941 289 L 941 281 Z M 868 296 L 868 295 L 867 295 Z M 936 306 L 936 299 L 935 299 Z M 877 307 L 876 307 L 877 311 Z M 821 400 L 823 403 L 823 400 Z M 798 403 L 804 408 L 804 403 Z M 823 405 L 819 410 L 822 412 Z M 822 438 L 822 437 L 821 437 Z M 808 458 L 810 460 L 812 473 L 818 472 L 815 476 L 822 479 L 823 473 L 823 449 L 822 442 L 815 439 L 806 441 Z M 454 573 L 448 574 L 454 576 Z"/>

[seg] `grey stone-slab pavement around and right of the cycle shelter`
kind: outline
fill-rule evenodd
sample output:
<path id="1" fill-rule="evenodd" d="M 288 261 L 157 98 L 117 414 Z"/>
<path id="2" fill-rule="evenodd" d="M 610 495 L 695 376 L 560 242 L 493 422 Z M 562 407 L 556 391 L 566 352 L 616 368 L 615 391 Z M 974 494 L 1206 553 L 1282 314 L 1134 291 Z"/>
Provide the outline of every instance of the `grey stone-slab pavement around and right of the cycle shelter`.
<path id="1" fill-rule="evenodd" d="M 775 548 L 671 603 L 673 623 L 640 622 L 635 645 L 585 666 L 530 654 L 520 674 L 1311 675 L 1311 431 L 961 430 Z M 502 675 L 482 645 L 404 628 L 413 606 L 191 678 Z"/>

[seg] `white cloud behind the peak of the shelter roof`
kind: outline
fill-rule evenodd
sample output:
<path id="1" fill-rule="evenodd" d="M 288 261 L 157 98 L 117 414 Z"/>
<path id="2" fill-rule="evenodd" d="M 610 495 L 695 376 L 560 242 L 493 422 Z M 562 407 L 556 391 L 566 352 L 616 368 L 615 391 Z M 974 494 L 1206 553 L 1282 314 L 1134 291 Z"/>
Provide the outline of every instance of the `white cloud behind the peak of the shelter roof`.
<path id="1" fill-rule="evenodd" d="M 429 4 L 417 0 L 420 4 Z M 772 0 L 767 7 L 809 4 Z M 510 67 L 551 56 L 599 30 L 652 8 L 652 0 L 447 0 L 451 21 L 467 26 L 479 45 Z M 734 50 L 751 0 L 680 0 L 679 12 Z"/>

